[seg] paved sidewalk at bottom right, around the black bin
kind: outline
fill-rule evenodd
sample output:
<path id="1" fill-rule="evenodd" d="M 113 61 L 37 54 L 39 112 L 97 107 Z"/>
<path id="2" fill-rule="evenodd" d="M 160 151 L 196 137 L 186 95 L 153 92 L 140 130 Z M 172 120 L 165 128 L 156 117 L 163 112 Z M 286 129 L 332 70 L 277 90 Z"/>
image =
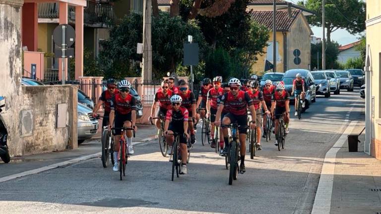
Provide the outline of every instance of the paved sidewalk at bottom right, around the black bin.
<path id="1" fill-rule="evenodd" d="M 359 134 L 365 123 L 359 122 L 352 134 Z M 364 133 L 359 137 L 365 141 Z M 364 152 L 348 152 L 348 143 L 336 154 L 331 214 L 378 214 L 381 213 L 381 161 Z"/>

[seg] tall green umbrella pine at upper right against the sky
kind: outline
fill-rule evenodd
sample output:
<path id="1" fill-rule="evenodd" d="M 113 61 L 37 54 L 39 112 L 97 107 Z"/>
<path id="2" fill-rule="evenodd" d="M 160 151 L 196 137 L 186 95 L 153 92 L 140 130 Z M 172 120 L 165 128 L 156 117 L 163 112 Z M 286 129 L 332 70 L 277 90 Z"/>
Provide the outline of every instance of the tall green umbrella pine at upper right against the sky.
<path id="1" fill-rule="evenodd" d="M 308 16 L 310 24 L 321 27 L 322 25 L 322 1 L 305 0 L 299 4 L 316 12 L 316 15 Z M 325 27 L 327 29 L 327 41 L 331 41 L 331 33 L 337 29 L 346 29 L 352 34 L 361 33 L 365 30 L 366 4 L 362 0 L 325 0 Z"/>

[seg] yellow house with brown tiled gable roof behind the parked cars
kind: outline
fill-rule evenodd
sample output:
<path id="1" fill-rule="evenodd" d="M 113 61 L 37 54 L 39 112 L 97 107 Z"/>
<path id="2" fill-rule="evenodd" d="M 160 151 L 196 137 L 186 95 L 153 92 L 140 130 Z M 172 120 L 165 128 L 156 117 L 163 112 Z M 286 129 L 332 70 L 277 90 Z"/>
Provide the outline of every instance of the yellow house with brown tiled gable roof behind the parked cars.
<path id="1" fill-rule="evenodd" d="M 263 0 L 264 1 L 264 0 Z M 257 55 L 258 60 L 253 65 L 252 72 L 262 73 L 265 61 L 273 60 L 273 33 L 272 11 L 252 11 L 252 19 L 266 26 L 269 32 L 268 46 L 263 55 Z M 300 9 L 278 10 L 276 12 L 276 46 L 277 46 L 277 72 L 285 72 L 293 68 L 310 69 L 311 67 L 311 35 L 313 32 Z M 299 60 L 295 60 L 294 51 L 299 50 Z"/>

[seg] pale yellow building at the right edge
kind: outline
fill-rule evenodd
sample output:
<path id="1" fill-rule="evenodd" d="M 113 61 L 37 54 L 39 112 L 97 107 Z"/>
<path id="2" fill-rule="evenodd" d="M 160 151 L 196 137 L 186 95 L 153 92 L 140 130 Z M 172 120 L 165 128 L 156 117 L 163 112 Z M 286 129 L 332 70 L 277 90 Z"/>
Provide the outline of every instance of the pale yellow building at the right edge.
<path id="1" fill-rule="evenodd" d="M 367 57 L 365 65 L 365 148 L 381 160 L 381 1 L 367 0 Z"/>

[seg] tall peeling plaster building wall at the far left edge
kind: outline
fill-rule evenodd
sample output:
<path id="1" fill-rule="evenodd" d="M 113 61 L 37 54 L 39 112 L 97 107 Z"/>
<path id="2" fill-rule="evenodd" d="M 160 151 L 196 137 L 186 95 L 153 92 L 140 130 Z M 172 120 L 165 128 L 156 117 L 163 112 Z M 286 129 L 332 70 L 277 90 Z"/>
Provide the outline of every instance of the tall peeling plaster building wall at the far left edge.
<path id="1" fill-rule="evenodd" d="M 0 1 L 0 96 L 5 97 L 1 112 L 8 129 L 8 146 L 12 155 L 21 155 L 20 125 L 16 116 L 21 96 L 21 5 L 22 0 Z"/>

